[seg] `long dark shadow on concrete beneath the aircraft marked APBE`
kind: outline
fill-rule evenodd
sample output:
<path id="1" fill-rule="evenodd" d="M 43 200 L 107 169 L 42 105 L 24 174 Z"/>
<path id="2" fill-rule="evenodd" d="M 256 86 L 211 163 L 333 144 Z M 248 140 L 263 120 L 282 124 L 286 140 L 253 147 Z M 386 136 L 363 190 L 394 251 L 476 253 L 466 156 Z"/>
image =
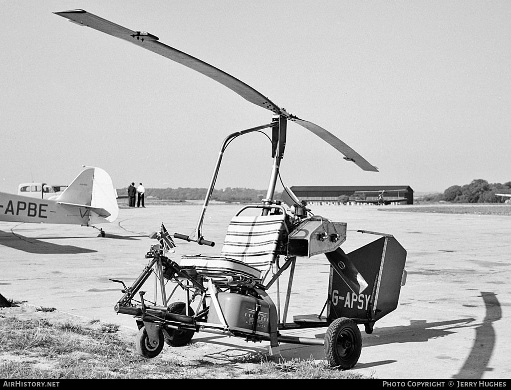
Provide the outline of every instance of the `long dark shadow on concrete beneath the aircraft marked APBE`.
<path id="1" fill-rule="evenodd" d="M 4 234 L 2 234 L 4 233 Z M 87 248 L 74 247 L 72 245 L 57 245 L 51 242 L 41 241 L 36 238 L 28 238 L 19 234 L 11 235 L 10 233 L 0 231 L 0 245 L 23 251 L 27 253 L 37 254 L 78 254 L 78 253 L 95 253 L 97 251 Z"/>

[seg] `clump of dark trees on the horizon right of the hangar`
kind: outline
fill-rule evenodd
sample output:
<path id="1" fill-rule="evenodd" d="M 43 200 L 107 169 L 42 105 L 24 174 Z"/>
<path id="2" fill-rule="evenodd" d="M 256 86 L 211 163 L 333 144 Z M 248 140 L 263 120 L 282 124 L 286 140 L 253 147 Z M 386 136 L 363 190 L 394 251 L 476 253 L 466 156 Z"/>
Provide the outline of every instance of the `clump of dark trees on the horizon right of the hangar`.
<path id="1" fill-rule="evenodd" d="M 504 203 L 509 199 L 498 197 L 496 193 L 511 193 L 511 181 L 501 184 L 476 179 L 470 184 L 452 185 L 444 193 L 428 195 L 424 200 L 450 203 Z"/>

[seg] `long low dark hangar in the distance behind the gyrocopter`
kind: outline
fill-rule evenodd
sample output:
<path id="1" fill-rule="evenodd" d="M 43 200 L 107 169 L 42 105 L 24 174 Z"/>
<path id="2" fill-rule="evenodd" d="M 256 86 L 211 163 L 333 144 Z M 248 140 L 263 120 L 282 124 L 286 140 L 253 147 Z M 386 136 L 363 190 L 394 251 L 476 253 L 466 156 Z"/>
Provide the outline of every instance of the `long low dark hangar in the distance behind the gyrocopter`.
<path id="1" fill-rule="evenodd" d="M 381 194 L 385 204 L 413 204 L 413 189 L 407 185 L 293 186 L 291 190 L 310 205 L 377 204 Z"/>

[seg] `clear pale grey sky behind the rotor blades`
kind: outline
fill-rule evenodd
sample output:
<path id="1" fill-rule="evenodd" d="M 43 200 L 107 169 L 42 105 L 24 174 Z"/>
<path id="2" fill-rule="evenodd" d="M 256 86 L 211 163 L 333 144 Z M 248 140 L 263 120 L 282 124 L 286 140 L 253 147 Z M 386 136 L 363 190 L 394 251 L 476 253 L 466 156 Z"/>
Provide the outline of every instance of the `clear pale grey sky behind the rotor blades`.
<path id="1" fill-rule="evenodd" d="M 224 70 L 380 170 L 288 123 L 289 187 L 511 181 L 511 2 L 0 0 L 0 191 L 69 184 L 82 165 L 116 188 L 204 188 L 223 139 L 271 121 L 189 68 L 53 14 L 73 9 Z M 216 188 L 265 189 L 271 166 L 263 134 L 239 137 Z"/>

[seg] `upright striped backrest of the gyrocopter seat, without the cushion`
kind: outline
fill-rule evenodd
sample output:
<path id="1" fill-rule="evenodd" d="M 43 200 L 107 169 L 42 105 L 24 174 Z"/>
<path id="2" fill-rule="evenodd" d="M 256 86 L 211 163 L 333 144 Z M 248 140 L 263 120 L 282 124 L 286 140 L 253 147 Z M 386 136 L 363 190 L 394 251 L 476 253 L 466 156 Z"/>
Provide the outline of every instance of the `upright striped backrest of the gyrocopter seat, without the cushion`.
<path id="1" fill-rule="evenodd" d="M 284 215 L 235 216 L 225 235 L 221 257 L 240 260 L 261 270 L 264 280 L 284 229 Z"/>

